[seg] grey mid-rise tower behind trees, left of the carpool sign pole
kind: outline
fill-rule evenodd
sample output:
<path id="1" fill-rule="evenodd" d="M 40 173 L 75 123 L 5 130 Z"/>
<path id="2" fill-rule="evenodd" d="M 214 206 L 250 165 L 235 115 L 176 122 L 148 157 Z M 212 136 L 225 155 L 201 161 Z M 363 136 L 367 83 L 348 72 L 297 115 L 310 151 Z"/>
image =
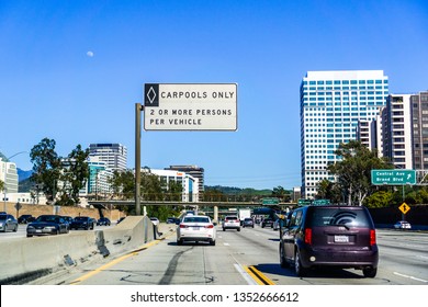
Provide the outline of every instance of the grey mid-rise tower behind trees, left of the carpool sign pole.
<path id="1" fill-rule="evenodd" d="M 111 170 L 126 170 L 127 149 L 122 144 L 90 144 L 89 157 L 98 157 Z"/>

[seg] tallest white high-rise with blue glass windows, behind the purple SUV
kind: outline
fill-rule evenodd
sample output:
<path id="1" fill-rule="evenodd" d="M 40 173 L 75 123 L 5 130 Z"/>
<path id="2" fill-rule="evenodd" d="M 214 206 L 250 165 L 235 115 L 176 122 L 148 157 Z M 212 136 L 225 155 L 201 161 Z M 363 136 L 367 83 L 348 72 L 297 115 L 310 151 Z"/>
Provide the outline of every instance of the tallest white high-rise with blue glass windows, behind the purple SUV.
<path id="1" fill-rule="evenodd" d="M 385 105 L 388 79 L 383 70 L 308 71 L 300 93 L 302 197 L 313 198 L 319 181 L 335 180 L 326 168 L 339 144 Z"/>

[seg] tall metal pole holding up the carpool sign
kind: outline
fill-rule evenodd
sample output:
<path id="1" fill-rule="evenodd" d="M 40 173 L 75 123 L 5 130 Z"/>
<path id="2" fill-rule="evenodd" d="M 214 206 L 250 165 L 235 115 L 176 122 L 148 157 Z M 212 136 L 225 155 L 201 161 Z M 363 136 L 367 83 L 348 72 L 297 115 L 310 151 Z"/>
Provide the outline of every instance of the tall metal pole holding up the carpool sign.
<path id="1" fill-rule="evenodd" d="M 142 214 L 140 183 L 142 183 L 142 111 L 140 103 L 135 104 L 135 214 Z"/>

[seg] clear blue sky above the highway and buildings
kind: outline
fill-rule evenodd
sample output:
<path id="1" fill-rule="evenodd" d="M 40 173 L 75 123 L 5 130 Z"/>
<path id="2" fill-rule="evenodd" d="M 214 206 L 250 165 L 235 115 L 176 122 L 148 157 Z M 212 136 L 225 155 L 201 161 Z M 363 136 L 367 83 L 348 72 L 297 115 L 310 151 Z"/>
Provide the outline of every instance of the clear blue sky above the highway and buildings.
<path id="1" fill-rule="evenodd" d="M 143 132 L 142 166 L 291 189 L 302 78 L 353 69 L 384 70 L 392 93 L 428 90 L 428 2 L 0 0 L 0 151 L 121 143 L 134 168 L 144 83 L 236 82 L 237 132 Z"/>

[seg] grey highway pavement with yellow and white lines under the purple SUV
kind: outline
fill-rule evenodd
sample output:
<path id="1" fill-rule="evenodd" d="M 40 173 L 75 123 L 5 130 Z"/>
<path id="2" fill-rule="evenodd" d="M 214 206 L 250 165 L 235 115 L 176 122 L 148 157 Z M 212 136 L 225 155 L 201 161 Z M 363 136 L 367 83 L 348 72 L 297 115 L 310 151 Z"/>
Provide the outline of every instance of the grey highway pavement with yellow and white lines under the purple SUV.
<path id="1" fill-rule="evenodd" d="M 428 236 L 423 232 L 378 230 L 380 268 L 375 278 L 357 270 L 317 270 L 297 277 L 279 265 L 279 232 L 271 228 L 222 231 L 217 242 L 177 246 L 174 234 L 165 240 L 103 263 L 77 268 L 52 284 L 81 285 L 247 285 L 258 281 L 255 268 L 278 285 L 427 285 Z"/>

